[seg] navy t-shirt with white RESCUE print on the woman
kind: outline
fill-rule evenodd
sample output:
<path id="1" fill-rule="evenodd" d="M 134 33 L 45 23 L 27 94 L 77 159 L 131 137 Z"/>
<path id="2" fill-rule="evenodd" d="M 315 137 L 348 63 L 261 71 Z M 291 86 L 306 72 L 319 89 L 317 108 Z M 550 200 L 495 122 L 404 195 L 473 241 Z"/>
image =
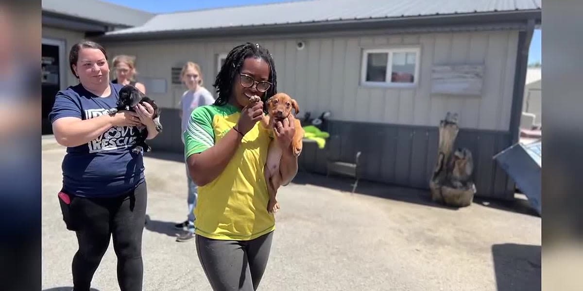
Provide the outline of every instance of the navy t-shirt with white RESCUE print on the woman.
<path id="1" fill-rule="evenodd" d="M 114 108 L 121 84 L 110 83 L 111 95 L 99 97 L 81 84 L 61 90 L 49 114 L 51 123 L 63 117 L 96 118 Z M 144 180 L 143 155 L 131 145 L 137 127 L 114 126 L 97 139 L 68 147 L 62 162 L 63 190 L 82 197 L 115 197 L 134 190 Z"/>

